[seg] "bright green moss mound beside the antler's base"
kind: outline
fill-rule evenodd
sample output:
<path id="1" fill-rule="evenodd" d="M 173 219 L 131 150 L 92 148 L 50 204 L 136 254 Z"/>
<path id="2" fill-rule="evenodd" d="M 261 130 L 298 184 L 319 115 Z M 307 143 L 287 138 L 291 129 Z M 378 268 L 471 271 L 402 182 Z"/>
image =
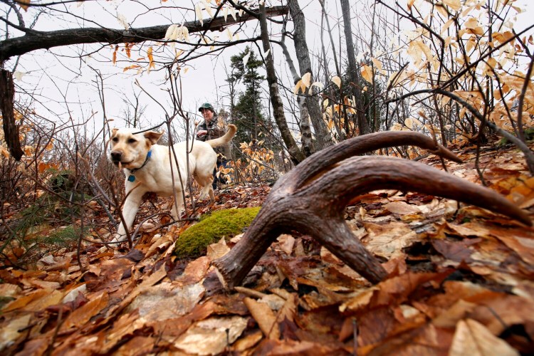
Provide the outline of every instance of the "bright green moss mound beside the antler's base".
<path id="1" fill-rule="evenodd" d="M 241 234 L 260 211 L 259 207 L 244 209 L 222 209 L 203 216 L 198 224 L 184 231 L 176 242 L 174 254 L 179 258 L 197 257 L 206 253 L 209 244 L 221 237 L 229 238 Z"/>

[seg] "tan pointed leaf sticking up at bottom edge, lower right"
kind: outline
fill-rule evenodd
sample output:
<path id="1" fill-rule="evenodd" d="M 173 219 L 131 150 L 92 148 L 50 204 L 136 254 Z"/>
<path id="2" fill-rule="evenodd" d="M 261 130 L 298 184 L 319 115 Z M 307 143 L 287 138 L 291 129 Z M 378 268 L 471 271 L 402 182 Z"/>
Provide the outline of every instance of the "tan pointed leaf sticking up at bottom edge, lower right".
<path id="1" fill-rule="evenodd" d="M 456 325 L 456 332 L 452 340 L 450 356 L 490 356 L 490 355 L 519 355 L 508 343 L 488 330 L 478 321 L 460 320 Z"/>

